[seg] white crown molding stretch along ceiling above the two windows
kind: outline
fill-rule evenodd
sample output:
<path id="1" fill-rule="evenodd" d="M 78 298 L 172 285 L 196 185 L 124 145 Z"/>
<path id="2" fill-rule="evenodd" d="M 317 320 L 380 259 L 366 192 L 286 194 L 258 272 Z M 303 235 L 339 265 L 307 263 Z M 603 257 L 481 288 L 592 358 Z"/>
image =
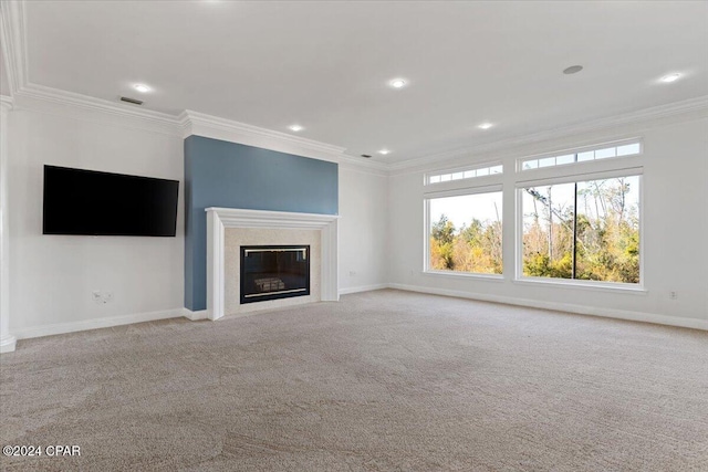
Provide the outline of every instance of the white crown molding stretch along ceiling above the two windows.
<path id="1" fill-rule="evenodd" d="M 708 116 L 708 95 L 689 98 L 683 102 L 674 102 L 666 105 L 644 108 L 616 116 L 575 123 L 561 128 L 512 136 L 506 139 L 486 143 L 478 146 L 452 149 L 444 153 L 423 156 L 419 158 L 407 159 L 399 162 L 391 162 L 388 164 L 387 169 L 388 171 L 394 174 L 408 172 L 413 170 L 429 168 L 431 165 L 440 166 L 445 162 L 452 161 L 462 157 L 489 154 L 492 151 L 501 151 L 504 149 L 568 138 L 574 135 L 608 132 L 614 130 L 621 126 L 642 126 L 662 120 L 691 118 L 695 115 L 701 114 L 706 114 L 706 116 Z"/>

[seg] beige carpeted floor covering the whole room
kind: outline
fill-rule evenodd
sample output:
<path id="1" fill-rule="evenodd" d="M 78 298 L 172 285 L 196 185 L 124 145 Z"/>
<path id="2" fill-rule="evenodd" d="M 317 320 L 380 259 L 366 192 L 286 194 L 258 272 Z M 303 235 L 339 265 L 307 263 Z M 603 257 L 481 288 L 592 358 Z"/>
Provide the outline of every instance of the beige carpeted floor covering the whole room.
<path id="1" fill-rule="evenodd" d="M 398 291 L 20 342 L 2 470 L 708 471 L 708 333 Z"/>

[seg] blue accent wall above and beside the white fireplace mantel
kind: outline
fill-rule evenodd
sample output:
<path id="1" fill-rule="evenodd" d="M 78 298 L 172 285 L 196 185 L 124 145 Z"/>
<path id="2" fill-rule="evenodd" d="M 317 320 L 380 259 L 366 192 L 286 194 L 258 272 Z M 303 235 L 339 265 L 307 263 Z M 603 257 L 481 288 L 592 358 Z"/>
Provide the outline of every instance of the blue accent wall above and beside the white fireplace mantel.
<path id="1" fill-rule="evenodd" d="M 185 139 L 185 307 L 207 307 L 206 208 L 337 214 L 334 162 L 202 136 Z"/>

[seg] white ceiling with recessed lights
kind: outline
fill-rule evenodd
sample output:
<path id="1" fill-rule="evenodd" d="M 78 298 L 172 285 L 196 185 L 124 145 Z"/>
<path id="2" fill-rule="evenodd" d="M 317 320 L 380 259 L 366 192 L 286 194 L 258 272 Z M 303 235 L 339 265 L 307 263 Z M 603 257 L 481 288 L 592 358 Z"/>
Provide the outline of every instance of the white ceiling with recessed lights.
<path id="1" fill-rule="evenodd" d="M 706 1 L 25 7 L 31 83 L 285 133 L 299 123 L 386 162 L 708 95 Z M 574 64 L 585 69 L 562 74 Z M 657 83 L 674 71 L 684 78 Z"/>

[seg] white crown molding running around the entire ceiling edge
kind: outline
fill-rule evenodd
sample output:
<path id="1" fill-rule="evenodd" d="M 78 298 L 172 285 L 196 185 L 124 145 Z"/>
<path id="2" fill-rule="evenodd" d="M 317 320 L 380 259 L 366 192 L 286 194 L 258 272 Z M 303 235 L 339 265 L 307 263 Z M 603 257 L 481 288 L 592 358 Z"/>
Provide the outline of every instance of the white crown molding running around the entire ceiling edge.
<path id="1" fill-rule="evenodd" d="M 299 136 L 291 136 L 284 133 L 259 128 L 252 125 L 241 124 L 229 119 L 210 116 L 206 114 L 197 114 L 197 112 L 183 112 L 179 115 L 166 115 L 148 109 L 131 108 L 128 105 L 113 103 L 101 98 L 94 98 L 85 95 L 74 94 L 71 92 L 59 91 L 56 88 L 45 87 L 30 82 L 28 76 L 28 48 L 27 48 L 27 12 L 25 1 L 2 1 L 0 15 L 0 45 L 7 66 L 7 75 L 10 85 L 10 93 L 15 96 L 24 95 L 39 99 L 48 99 L 60 103 L 67 103 L 74 106 L 93 108 L 108 114 L 117 114 L 128 118 L 143 118 L 142 122 L 150 122 L 155 118 L 160 120 L 159 115 L 167 117 L 170 123 L 170 134 L 183 135 L 185 129 L 190 125 L 185 123 L 185 115 L 191 114 L 199 122 L 200 133 L 220 134 L 220 139 L 230 140 L 240 139 L 244 136 L 254 139 L 260 138 L 254 146 L 264 147 L 267 149 L 281 150 L 283 148 L 298 149 L 292 153 L 306 153 L 309 157 L 324 160 L 333 160 L 336 162 L 347 164 L 374 171 L 386 171 L 387 174 L 409 172 L 423 170 L 424 168 L 435 165 L 442 167 L 442 161 L 455 160 L 464 157 L 482 155 L 489 151 L 502 150 L 506 148 L 525 146 L 530 144 L 564 138 L 572 135 L 579 135 L 591 132 L 604 132 L 616 128 L 617 126 L 646 124 L 660 119 L 684 119 L 693 114 L 704 114 L 708 111 L 708 95 L 689 98 L 683 102 L 675 102 L 665 105 L 643 108 L 639 111 L 628 112 L 615 116 L 593 119 L 587 122 L 579 122 L 565 127 L 546 129 L 539 133 L 512 136 L 497 141 L 485 143 L 478 146 L 452 149 L 446 153 L 438 153 L 423 156 L 415 159 L 406 159 L 398 162 L 379 162 L 373 160 L 361 160 L 356 157 L 345 156 L 344 148 L 310 139 L 303 139 Z M 19 104 L 18 104 L 19 105 Z M 232 125 L 236 124 L 236 125 Z M 228 136 L 231 136 L 228 138 Z M 237 140 L 236 143 L 240 143 Z M 243 143 L 248 144 L 248 143 Z M 270 147 L 270 146 L 275 147 Z M 312 153 L 312 154 L 310 154 Z M 462 166 L 465 164 L 461 164 Z M 504 169 L 508 170 L 508 169 Z"/>

